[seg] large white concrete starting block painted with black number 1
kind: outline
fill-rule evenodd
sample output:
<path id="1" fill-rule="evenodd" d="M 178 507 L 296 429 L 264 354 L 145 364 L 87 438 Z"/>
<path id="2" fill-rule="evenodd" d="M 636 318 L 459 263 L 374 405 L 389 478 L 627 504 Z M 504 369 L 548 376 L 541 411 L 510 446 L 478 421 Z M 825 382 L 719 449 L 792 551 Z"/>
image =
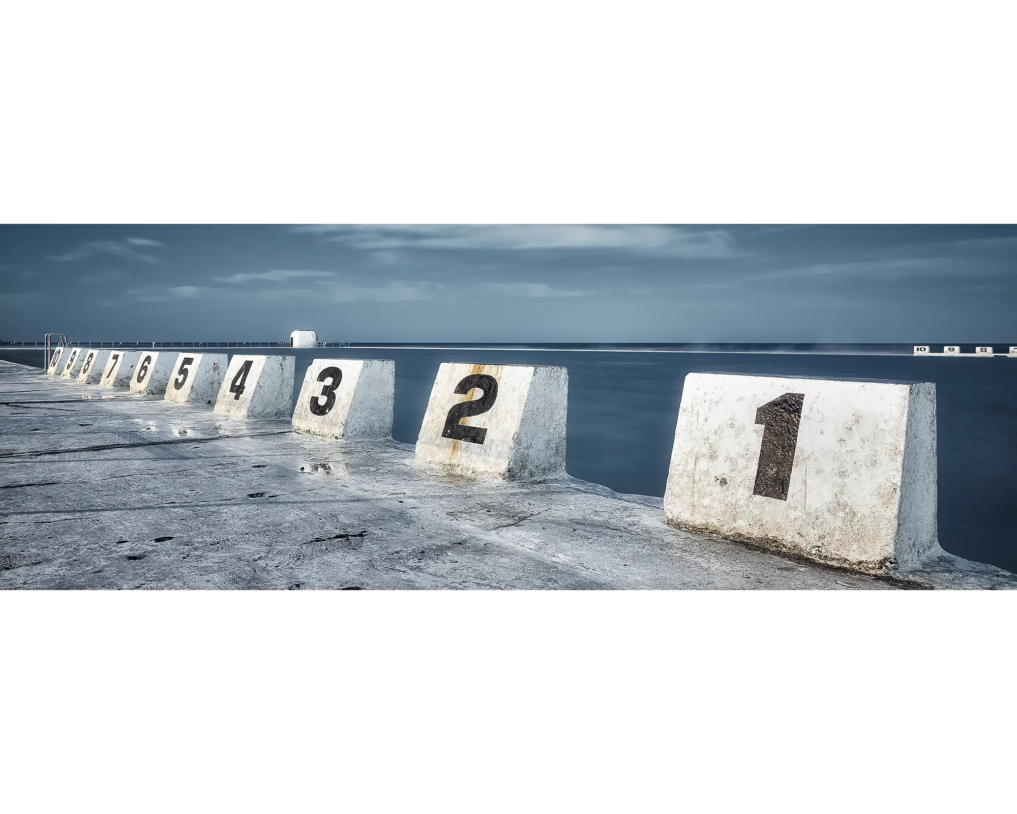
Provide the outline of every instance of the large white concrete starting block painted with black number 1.
<path id="1" fill-rule="evenodd" d="M 885 573 L 939 554 L 936 386 L 690 373 L 667 522 Z"/>

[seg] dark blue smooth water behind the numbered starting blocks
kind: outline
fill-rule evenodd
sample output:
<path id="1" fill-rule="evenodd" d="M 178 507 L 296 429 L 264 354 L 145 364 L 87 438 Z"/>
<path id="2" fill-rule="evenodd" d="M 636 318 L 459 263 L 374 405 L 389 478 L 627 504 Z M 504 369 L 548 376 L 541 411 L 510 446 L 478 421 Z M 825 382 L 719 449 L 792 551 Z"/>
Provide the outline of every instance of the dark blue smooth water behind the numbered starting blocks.
<path id="1" fill-rule="evenodd" d="M 824 346 L 826 352 L 816 346 L 763 345 L 724 350 L 540 347 L 553 349 L 375 346 L 249 352 L 292 353 L 294 397 L 314 358 L 395 359 L 393 435 L 410 444 L 417 440 L 442 361 L 562 365 L 569 368 L 570 474 L 617 491 L 657 497 L 667 482 L 681 386 L 690 372 L 935 382 L 940 542 L 953 554 L 1017 572 L 1017 359 L 915 357 L 910 346 Z M 0 358 L 42 365 L 40 351 L 2 350 Z"/>

